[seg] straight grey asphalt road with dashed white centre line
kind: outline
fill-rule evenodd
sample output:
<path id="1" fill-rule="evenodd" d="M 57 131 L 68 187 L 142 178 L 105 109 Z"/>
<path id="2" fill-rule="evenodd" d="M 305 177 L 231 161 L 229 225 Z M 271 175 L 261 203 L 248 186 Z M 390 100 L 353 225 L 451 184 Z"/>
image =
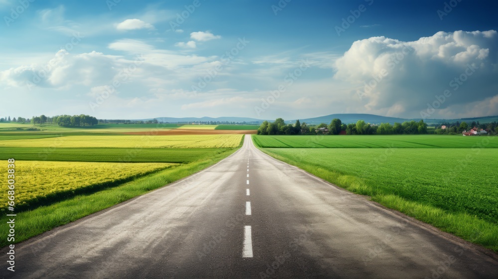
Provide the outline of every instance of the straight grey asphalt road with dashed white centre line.
<path id="1" fill-rule="evenodd" d="M 498 262 L 473 245 L 275 160 L 249 136 L 218 164 L 17 244 L 15 253 L 16 271 L 3 269 L 4 278 L 498 275 Z"/>

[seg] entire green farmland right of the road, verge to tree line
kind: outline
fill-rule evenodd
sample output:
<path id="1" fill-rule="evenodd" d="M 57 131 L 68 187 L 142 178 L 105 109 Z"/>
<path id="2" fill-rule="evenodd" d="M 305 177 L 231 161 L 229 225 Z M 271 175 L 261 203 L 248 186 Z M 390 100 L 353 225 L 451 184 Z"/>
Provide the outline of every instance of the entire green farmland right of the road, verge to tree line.
<path id="1" fill-rule="evenodd" d="M 498 148 L 492 148 L 498 143 L 497 137 L 253 136 L 253 139 L 256 144 L 278 146 L 261 148 L 277 159 L 498 252 Z M 386 148 L 380 148 L 382 141 L 386 142 Z M 354 148 L 339 148 L 342 145 Z M 322 148 L 309 148 L 313 146 Z"/>

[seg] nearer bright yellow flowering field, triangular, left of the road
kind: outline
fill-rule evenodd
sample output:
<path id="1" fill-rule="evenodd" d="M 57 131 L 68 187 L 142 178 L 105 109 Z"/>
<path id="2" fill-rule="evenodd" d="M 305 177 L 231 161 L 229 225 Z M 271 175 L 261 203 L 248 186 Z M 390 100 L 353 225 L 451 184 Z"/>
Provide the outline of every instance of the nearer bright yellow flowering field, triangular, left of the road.
<path id="1" fill-rule="evenodd" d="M 180 164 L 15 161 L 15 204 L 22 207 L 43 202 L 58 194 L 72 194 L 81 188 L 112 184 L 176 165 Z M 6 178 L 6 163 L 0 164 L 0 172 Z M 0 195 L 2 209 L 7 201 L 6 193 Z"/>

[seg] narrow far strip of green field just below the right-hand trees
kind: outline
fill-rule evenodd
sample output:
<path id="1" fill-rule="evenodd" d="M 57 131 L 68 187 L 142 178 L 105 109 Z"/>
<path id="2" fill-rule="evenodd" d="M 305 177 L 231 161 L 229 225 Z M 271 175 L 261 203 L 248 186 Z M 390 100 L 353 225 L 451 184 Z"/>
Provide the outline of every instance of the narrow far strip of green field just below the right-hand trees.
<path id="1" fill-rule="evenodd" d="M 389 136 L 252 136 L 254 143 L 264 148 L 497 148 L 494 137 L 463 137 L 449 135 L 389 135 Z"/>

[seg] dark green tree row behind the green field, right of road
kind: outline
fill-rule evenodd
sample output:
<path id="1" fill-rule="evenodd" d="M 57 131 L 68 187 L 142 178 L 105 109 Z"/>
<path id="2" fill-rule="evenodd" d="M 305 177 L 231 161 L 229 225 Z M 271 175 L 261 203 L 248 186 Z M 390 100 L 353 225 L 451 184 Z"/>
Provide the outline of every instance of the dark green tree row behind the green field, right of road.
<path id="1" fill-rule="evenodd" d="M 344 131 L 344 132 L 343 132 Z M 341 133 L 342 132 L 342 133 Z M 333 119 L 329 125 L 321 123 L 319 125 L 308 125 L 300 123 L 285 124 L 282 118 L 277 118 L 275 122 L 264 121 L 257 129 L 258 135 L 417 135 L 428 134 L 427 124 L 420 120 L 405 121 L 403 123 L 381 123 L 380 125 L 366 123 L 359 120 L 356 124 L 343 124 L 340 119 Z"/>

